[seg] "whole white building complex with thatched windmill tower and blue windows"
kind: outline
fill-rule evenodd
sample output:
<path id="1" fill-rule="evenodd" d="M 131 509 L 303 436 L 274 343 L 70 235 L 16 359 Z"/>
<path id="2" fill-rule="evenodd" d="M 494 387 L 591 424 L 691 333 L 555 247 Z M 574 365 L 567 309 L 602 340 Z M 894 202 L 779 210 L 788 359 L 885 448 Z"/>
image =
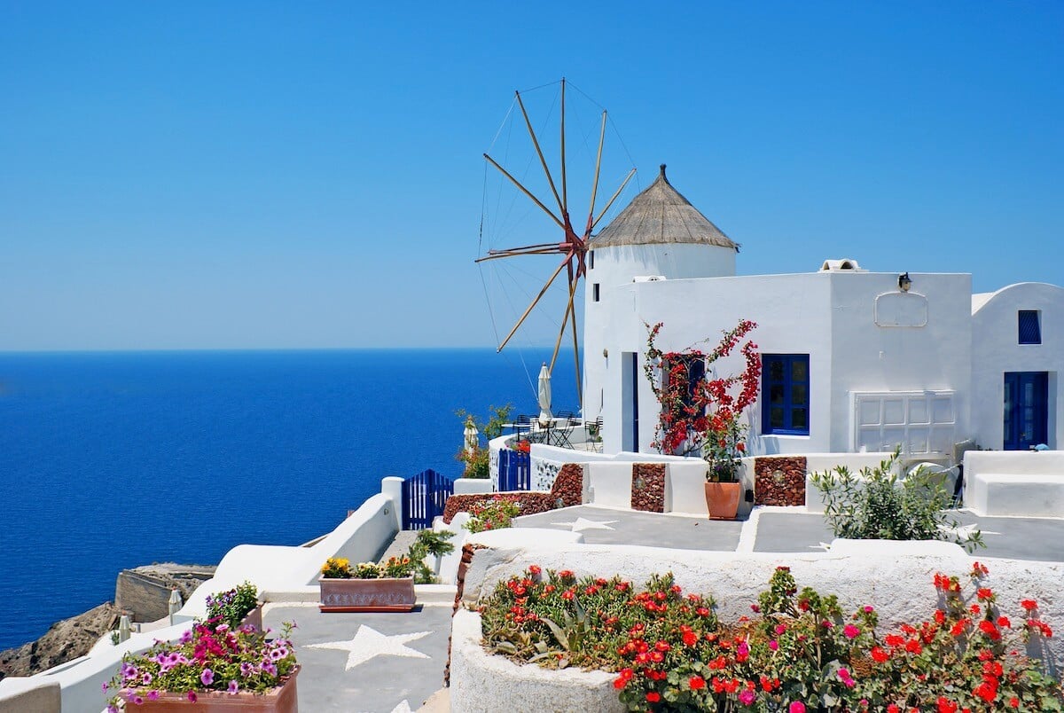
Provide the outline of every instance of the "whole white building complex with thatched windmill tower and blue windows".
<path id="1" fill-rule="evenodd" d="M 643 371 L 658 346 L 711 349 L 759 327 L 752 454 L 891 450 L 949 459 L 953 445 L 1058 448 L 1064 435 L 1064 289 L 972 295 L 969 275 L 869 272 L 852 260 L 736 276 L 738 246 L 661 175 L 595 236 L 587 258 L 584 415 L 606 452 L 651 451 L 659 407 Z M 907 265 L 905 267 L 909 267 Z M 717 364 L 742 369 L 742 356 Z"/>

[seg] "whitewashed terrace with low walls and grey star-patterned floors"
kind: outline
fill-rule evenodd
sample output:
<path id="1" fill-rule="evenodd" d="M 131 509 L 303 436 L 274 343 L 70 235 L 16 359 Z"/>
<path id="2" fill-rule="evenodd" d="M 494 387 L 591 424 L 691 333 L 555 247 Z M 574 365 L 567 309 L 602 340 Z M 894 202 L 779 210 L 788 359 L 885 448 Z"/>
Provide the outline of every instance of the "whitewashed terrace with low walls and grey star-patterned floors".
<path id="1" fill-rule="evenodd" d="M 970 565 L 963 550 L 944 543 L 831 543 L 817 514 L 818 494 L 812 488 L 805 491 L 804 504 L 751 508 L 746 503 L 738 520 L 709 521 L 701 461 L 645 453 L 606 457 L 539 444 L 531 450 L 533 477 L 541 486 L 549 486 L 562 463 L 582 464 L 582 504 L 520 517 L 513 530 L 479 535 L 468 535 L 460 527 L 464 514 L 449 526 L 437 517 L 434 527 L 456 531 L 459 546 L 466 536 L 488 547 L 478 551 L 466 576 L 462 594 L 466 602 L 499 579 L 537 563 L 602 576 L 624 573 L 635 579 L 671 570 L 685 588 L 711 592 L 728 602 L 729 611 L 721 612 L 727 615 L 732 608 L 745 607 L 747 599 L 752 601 L 758 587 L 767 581 L 762 575 L 785 563 L 799 581 L 831 588 L 844 600 L 876 599 L 872 603 L 885 609 L 885 620 L 891 620 L 913 608 L 932 606 L 933 571 L 961 573 Z M 804 459 L 811 471 L 839 464 L 860 468 L 878 463 L 883 455 L 807 454 Z M 650 461 L 665 465 L 666 512 L 661 514 L 630 508 L 633 464 Z M 757 487 L 755 465 L 755 459 L 744 462 L 743 480 L 751 492 Z M 1064 487 L 1062 455 L 969 451 L 964 465 L 965 498 L 970 507 L 959 515 L 966 526 L 978 526 L 985 533 L 987 549 L 978 557 L 991 567 L 995 588 L 1002 597 L 1023 595 L 1046 601 L 1046 618 L 1064 620 L 1064 601 L 1058 596 L 1059 582 L 1064 580 L 1064 519 L 1061 500 L 1051 499 L 1059 498 L 1059 488 Z M 460 480 L 455 485 L 456 493 L 491 490 L 491 481 Z M 401 479 L 385 478 L 380 494 L 313 543 L 234 548 L 222 559 L 214 579 L 177 612 L 172 625 L 157 623 L 160 628 L 134 633 L 117 646 L 104 637 L 82 659 L 30 678 L 0 681 L 0 712 L 98 713 L 104 703 L 101 685 L 114 676 L 124 652 L 144 650 L 155 639 L 179 636 L 189 621 L 204 614 L 207 594 L 245 580 L 255 583 L 267 602 L 267 626 L 276 628 L 286 619 L 299 625 L 294 641 L 303 664 L 299 699 L 304 711 L 418 709 L 443 685 L 459 553 L 432 563 L 445 583 L 419 585 L 421 608 L 412 614 L 321 614 L 315 583 L 328 557 L 369 560 L 386 548 L 401 528 Z M 486 711 L 511 703 L 513 710 L 531 710 L 517 704 L 528 686 L 552 684 L 561 686 L 559 695 L 575 696 L 572 700 L 589 696 L 591 710 L 608 710 L 599 706 L 615 703 L 594 676 L 577 682 L 576 690 L 583 692 L 578 695 L 566 687 L 573 684 L 564 676 L 554 678 L 532 667 L 518 669 L 484 657 L 477 624 L 470 617 L 460 613 L 453 619 L 449 695 L 437 693 L 425 710 Z M 1046 654 L 1059 669 L 1064 664 L 1064 644 L 1052 641 L 1054 648 Z"/>

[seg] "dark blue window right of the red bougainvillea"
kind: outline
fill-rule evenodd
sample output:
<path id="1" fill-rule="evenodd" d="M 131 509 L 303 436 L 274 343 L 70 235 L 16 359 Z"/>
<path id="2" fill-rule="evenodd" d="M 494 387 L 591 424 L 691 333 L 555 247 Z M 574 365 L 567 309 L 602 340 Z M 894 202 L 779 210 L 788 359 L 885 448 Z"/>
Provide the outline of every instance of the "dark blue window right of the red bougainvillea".
<path id="1" fill-rule="evenodd" d="M 761 432 L 809 435 L 809 354 L 762 354 L 761 368 Z"/>

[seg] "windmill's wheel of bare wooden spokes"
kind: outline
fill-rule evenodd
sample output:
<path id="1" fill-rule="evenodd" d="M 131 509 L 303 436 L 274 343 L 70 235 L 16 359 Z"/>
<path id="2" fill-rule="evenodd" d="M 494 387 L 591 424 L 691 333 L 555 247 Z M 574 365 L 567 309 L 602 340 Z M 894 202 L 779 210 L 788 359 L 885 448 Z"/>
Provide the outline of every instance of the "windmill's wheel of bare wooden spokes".
<path id="1" fill-rule="evenodd" d="M 608 201 L 601 206 L 597 205 L 598 192 L 599 192 L 599 179 L 602 168 L 602 153 L 603 146 L 606 137 L 606 123 L 608 123 L 608 112 L 603 109 L 601 112 L 600 120 L 598 123 L 598 142 L 597 150 L 595 152 L 594 160 L 594 178 L 591 182 L 589 199 L 586 218 L 583 214 L 577 214 L 577 226 L 573 227 L 573 214 L 580 209 L 572 206 L 572 212 L 570 213 L 569 204 L 569 169 L 567 166 L 566 156 L 566 127 L 565 127 L 565 92 L 566 92 L 566 81 L 563 78 L 560 82 L 560 143 L 559 148 L 559 164 L 556 166 L 556 171 L 552 172 L 549 166 L 547 156 L 545 155 L 544 149 L 542 147 L 543 132 L 537 135 L 535 129 L 532 126 L 532 119 L 529 116 L 529 112 L 525 105 L 525 99 L 522 98 L 521 92 L 514 93 L 514 104 L 520 112 L 520 117 L 523 119 L 525 128 L 528 132 L 529 140 L 531 142 L 531 147 L 535 151 L 535 160 L 543 169 L 544 178 L 546 178 L 545 188 L 548 190 L 542 190 L 543 197 L 537 196 L 536 193 L 528 187 L 528 180 L 522 180 L 515 176 L 514 170 L 506 166 L 505 160 L 497 161 L 492 157 L 488 153 L 484 153 L 484 160 L 487 165 L 494 170 L 498 171 L 505 181 L 515 186 L 519 193 L 530 200 L 541 214 L 541 225 L 549 226 L 549 222 L 553 223 L 553 228 L 550 230 L 558 231 L 560 234 L 560 239 L 551 242 L 541 242 L 533 243 L 529 245 L 519 245 L 513 247 L 501 247 L 501 248 L 489 248 L 484 254 L 477 259 L 478 264 L 488 263 L 491 261 L 505 261 L 512 259 L 526 259 L 532 255 L 542 256 L 553 255 L 558 260 L 556 266 L 546 280 L 543 281 L 542 286 L 538 292 L 531 298 L 528 305 L 521 312 L 520 316 L 516 318 L 513 327 L 502 337 L 499 342 L 497 351 L 502 351 L 502 349 L 511 342 L 514 335 L 518 332 L 525 321 L 528 319 L 529 315 L 532 314 L 533 310 L 541 303 L 544 295 L 548 294 L 551 286 L 555 284 L 558 279 L 564 273 L 565 275 L 565 285 L 564 285 L 564 297 L 565 308 L 563 311 L 561 325 L 558 330 L 558 336 L 554 339 L 553 353 L 550 358 L 549 369 L 553 371 L 554 363 L 558 361 L 558 354 L 562 347 L 562 342 L 565 339 L 566 328 L 569 329 L 572 338 L 572 352 L 576 368 L 576 384 L 577 384 L 577 395 L 580 399 L 581 405 L 583 403 L 583 395 L 581 394 L 581 378 L 580 378 L 580 347 L 578 342 L 578 328 L 577 328 L 577 310 L 575 305 L 575 300 L 577 296 L 577 288 L 580 284 L 580 280 L 586 277 L 587 265 L 585 258 L 588 251 L 588 243 L 592 238 L 592 234 L 599 227 L 602 218 L 609 213 L 610 209 L 613 206 L 614 202 L 625 190 L 629 181 L 635 176 L 635 168 L 631 168 L 627 171 L 624 179 L 620 181 L 620 185 L 613 193 Z M 579 92 L 579 89 L 578 89 Z M 581 93 L 582 94 L 582 93 Z M 584 95 L 586 96 L 586 95 Z M 586 136 L 584 137 L 586 139 Z M 535 163 L 535 162 L 530 162 Z M 556 179 L 556 180 L 555 180 Z M 543 228 L 541 228 L 543 230 Z"/>

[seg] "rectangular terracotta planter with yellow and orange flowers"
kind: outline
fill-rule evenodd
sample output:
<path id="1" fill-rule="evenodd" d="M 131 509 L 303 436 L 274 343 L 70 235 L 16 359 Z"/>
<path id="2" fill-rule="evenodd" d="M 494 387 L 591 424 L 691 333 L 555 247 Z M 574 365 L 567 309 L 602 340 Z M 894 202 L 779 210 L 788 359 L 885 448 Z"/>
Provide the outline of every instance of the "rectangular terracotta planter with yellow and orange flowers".
<path id="1" fill-rule="evenodd" d="M 361 562 L 353 567 L 346 558 L 331 557 L 318 578 L 322 612 L 410 612 L 417 603 L 415 581 L 436 581 L 425 563 L 428 556 L 439 557 L 454 550 L 447 542 L 453 532 L 421 530 L 405 554 L 385 562 Z"/>

